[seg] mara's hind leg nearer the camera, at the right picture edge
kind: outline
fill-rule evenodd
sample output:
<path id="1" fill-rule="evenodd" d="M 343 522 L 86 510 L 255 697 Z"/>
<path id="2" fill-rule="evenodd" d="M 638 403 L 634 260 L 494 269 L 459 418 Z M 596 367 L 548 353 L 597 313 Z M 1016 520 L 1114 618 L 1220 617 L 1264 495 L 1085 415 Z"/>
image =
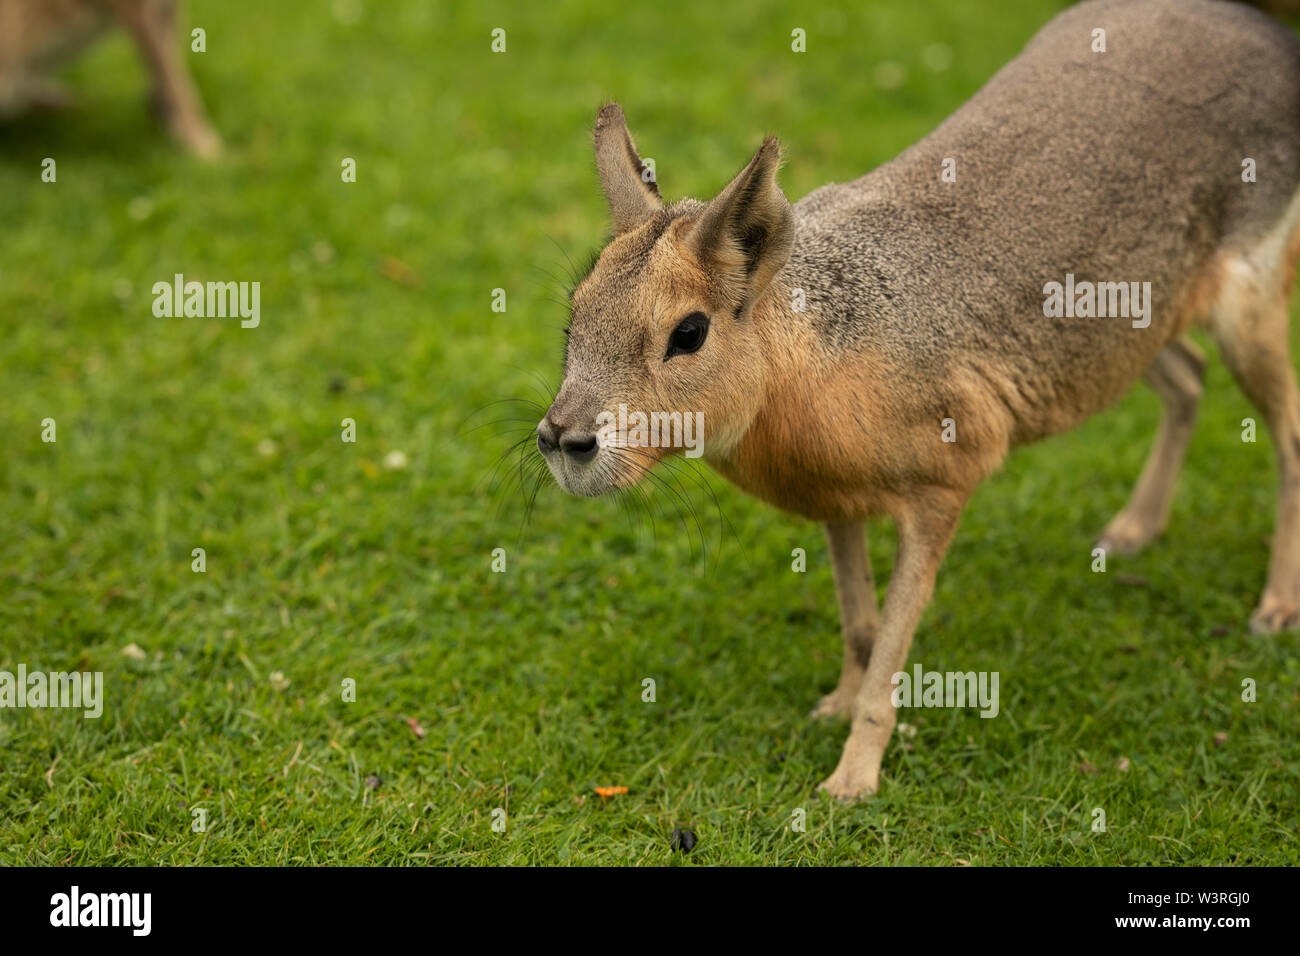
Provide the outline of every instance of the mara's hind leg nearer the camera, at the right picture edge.
<path id="1" fill-rule="evenodd" d="M 1227 261 L 1209 320 L 1223 363 L 1273 434 L 1278 464 L 1273 553 L 1251 630 L 1277 633 L 1300 626 L 1300 392 L 1287 341 L 1291 269 L 1282 256 L 1260 259 Z"/>

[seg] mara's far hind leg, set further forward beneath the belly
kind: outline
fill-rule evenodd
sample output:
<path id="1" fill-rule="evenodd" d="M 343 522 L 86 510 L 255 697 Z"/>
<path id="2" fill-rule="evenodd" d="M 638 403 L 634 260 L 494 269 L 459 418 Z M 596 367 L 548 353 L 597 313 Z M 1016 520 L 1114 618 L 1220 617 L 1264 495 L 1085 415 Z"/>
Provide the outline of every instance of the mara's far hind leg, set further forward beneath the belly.
<path id="1" fill-rule="evenodd" d="M 1108 554 L 1132 554 L 1165 531 L 1174 483 L 1196 424 L 1204 373 L 1205 356 L 1186 339 L 1165 346 L 1147 369 L 1144 380 L 1161 397 L 1165 411 L 1156 445 L 1128 503 L 1110 520 L 1097 541 L 1097 546 Z"/>

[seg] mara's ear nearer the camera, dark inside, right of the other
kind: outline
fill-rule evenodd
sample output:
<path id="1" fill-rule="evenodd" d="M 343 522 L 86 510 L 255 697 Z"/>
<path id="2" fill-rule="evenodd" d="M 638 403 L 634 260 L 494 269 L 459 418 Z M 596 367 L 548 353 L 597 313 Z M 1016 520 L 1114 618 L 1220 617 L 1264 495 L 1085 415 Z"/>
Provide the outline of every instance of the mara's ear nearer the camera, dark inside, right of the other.
<path id="1" fill-rule="evenodd" d="M 690 233 L 699 261 L 720 273 L 742 307 L 753 304 L 794 246 L 794 212 L 776 185 L 780 163 L 781 144 L 768 137 Z"/>

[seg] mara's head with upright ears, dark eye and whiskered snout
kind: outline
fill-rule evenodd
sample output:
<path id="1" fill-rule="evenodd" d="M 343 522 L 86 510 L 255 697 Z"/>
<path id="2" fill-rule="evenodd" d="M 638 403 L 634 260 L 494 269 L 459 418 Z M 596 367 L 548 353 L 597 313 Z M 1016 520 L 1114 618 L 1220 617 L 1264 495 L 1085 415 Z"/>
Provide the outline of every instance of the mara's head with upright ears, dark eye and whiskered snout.
<path id="1" fill-rule="evenodd" d="M 555 481 L 594 497 L 682 453 L 725 455 L 763 397 L 755 304 L 794 242 L 768 138 L 707 203 L 664 204 L 623 111 L 595 118 L 612 237 L 572 293 L 564 381 L 537 427 Z"/>

